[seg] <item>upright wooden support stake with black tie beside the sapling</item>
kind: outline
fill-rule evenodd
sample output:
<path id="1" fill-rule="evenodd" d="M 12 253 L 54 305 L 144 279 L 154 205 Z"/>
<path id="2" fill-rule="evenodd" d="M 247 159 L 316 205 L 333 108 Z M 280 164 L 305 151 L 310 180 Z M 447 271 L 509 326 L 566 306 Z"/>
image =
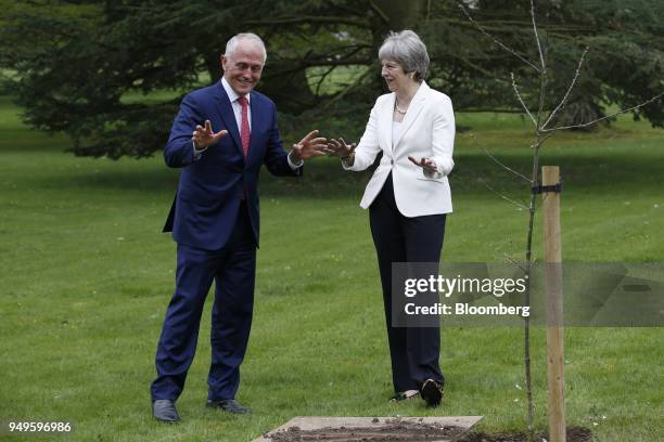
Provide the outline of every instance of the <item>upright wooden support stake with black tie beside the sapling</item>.
<path id="1" fill-rule="evenodd" d="M 542 186 L 560 183 L 558 166 L 541 168 Z M 542 193 L 547 294 L 547 366 L 549 384 L 549 440 L 565 442 L 565 376 L 563 350 L 562 253 L 560 193 Z"/>

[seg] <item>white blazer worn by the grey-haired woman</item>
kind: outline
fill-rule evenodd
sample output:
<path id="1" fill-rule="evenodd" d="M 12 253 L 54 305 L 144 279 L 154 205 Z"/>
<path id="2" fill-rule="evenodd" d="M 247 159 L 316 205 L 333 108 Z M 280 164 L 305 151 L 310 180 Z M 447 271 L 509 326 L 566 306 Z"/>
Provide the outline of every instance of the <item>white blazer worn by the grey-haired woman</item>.
<path id="1" fill-rule="evenodd" d="M 355 150 L 353 166 L 360 171 L 373 164 L 379 152 L 383 158 L 367 184 L 360 207 L 368 208 L 392 171 L 394 198 L 401 214 L 421 217 L 452 211 L 447 174 L 455 167 L 455 114 L 449 96 L 422 81 L 412 98 L 396 140 L 392 139 L 392 119 L 396 94 L 387 93 L 375 101 L 365 134 Z M 433 159 L 437 172 L 424 173 L 408 156 Z"/>

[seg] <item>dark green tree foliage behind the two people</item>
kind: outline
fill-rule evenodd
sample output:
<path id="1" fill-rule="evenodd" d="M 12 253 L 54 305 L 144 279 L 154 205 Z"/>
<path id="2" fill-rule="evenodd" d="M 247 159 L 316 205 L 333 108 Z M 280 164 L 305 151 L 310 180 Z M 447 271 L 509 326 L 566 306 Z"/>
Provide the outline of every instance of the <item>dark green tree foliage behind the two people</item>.
<path id="1" fill-rule="evenodd" d="M 493 36 L 536 60 L 528 0 L 462 3 Z M 536 4 L 551 96 L 564 94 L 578 55 L 591 47 L 560 122 L 595 118 L 608 105 L 628 107 L 664 90 L 663 2 Z M 247 30 L 268 46 L 258 89 L 277 102 L 286 130 L 316 121 L 357 136 L 384 91 L 376 50 L 391 29 L 422 36 L 432 58 L 429 81 L 451 96 L 457 110 L 521 112 L 512 72 L 526 102 L 537 101 L 527 93 L 538 90 L 531 88 L 537 76 L 480 34 L 455 0 L 43 0 L 0 6 L 4 90 L 24 107 L 27 122 L 68 133 L 77 155 L 158 151 L 181 94 L 217 80 L 226 41 Z M 640 116 L 663 126 L 662 101 L 635 112 Z"/>

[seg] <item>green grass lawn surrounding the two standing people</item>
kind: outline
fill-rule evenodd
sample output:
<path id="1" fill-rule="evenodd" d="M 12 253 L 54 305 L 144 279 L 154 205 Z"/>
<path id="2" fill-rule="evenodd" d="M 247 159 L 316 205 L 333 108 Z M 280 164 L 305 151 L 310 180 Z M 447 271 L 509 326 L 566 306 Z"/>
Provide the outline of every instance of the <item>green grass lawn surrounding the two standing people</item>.
<path id="1" fill-rule="evenodd" d="M 67 139 L 23 127 L 16 112 L 0 101 L 0 419 L 71 420 L 67 439 L 81 441 L 248 441 L 299 415 L 484 415 L 484 431 L 523 429 L 518 328 L 444 328 L 444 406 L 387 402 L 378 269 L 358 207 L 368 176 L 344 173 L 331 159 L 312 161 L 299 181 L 261 178 L 255 318 L 238 398 L 255 414 L 203 406 L 207 309 L 178 401 L 183 421 L 154 421 L 149 385 L 175 266 L 175 244 L 159 231 L 178 173 L 161 158 L 64 154 Z M 528 126 L 502 115 L 461 115 L 459 122 L 473 129 L 457 141 L 444 259 L 521 257 L 526 213 L 483 182 L 515 199 L 527 187 L 478 147 L 526 172 Z M 661 130 L 626 118 L 595 134 L 562 134 L 547 143 L 542 164 L 563 168 L 565 260 L 664 262 Z M 569 424 L 591 428 L 596 441 L 657 440 L 662 329 L 565 335 Z M 541 329 L 533 349 L 537 427 L 545 429 Z"/>

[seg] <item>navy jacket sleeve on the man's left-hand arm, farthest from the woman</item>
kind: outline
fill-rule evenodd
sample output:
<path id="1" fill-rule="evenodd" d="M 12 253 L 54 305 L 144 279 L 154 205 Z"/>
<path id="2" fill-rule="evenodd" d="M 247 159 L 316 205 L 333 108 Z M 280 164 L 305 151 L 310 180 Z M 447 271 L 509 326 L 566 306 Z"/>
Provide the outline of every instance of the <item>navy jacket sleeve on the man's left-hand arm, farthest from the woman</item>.
<path id="1" fill-rule="evenodd" d="M 164 160 L 168 167 L 184 167 L 195 160 L 191 134 L 201 121 L 203 119 L 194 99 L 191 94 L 184 96 L 164 147 Z"/>

